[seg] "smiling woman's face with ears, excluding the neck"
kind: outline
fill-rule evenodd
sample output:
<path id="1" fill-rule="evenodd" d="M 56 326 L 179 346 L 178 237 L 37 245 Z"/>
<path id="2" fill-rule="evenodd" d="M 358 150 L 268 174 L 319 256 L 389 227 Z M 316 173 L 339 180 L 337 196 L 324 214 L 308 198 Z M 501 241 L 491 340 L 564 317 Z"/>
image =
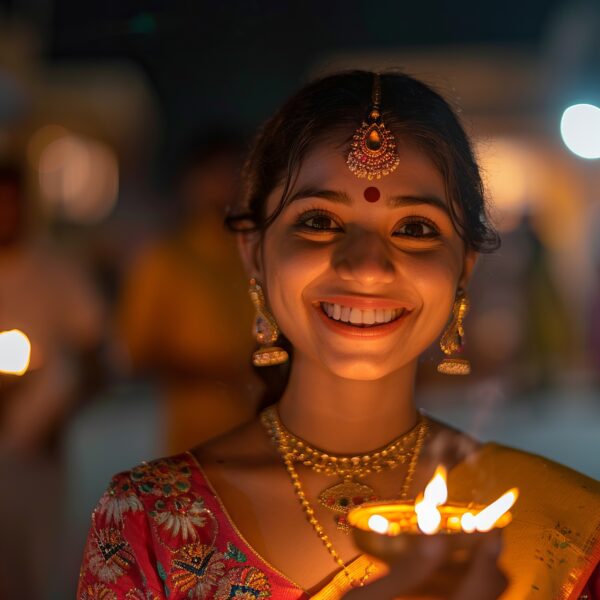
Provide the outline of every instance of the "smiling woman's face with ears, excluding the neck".
<path id="1" fill-rule="evenodd" d="M 446 325 L 475 260 L 437 168 L 410 146 L 399 156 L 393 173 L 368 181 L 339 148 L 318 147 L 262 244 L 247 244 L 250 271 L 294 352 L 340 377 L 379 379 L 415 361 Z M 373 187 L 379 199 L 368 202 Z M 281 194 L 270 194 L 268 214 Z"/>

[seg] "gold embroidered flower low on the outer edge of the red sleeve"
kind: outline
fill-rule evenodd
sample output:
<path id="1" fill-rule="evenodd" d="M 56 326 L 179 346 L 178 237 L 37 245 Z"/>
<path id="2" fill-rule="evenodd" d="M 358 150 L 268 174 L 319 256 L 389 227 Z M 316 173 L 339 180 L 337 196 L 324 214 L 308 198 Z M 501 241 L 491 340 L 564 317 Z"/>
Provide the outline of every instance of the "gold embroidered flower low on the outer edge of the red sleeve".
<path id="1" fill-rule="evenodd" d="M 100 581 L 114 583 L 133 564 L 129 544 L 117 529 L 95 533 L 96 543 L 89 545 L 89 568 Z"/>

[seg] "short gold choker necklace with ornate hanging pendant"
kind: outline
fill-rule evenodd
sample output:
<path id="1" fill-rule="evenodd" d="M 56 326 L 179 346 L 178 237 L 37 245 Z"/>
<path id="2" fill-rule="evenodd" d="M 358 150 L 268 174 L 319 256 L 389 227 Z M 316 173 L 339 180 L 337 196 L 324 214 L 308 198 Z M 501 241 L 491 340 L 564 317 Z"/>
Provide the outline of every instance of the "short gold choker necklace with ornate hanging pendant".
<path id="1" fill-rule="evenodd" d="M 429 425 L 427 419 L 419 415 L 417 424 L 412 429 L 378 450 L 357 456 L 335 456 L 295 437 L 281 422 L 275 406 L 265 409 L 261 419 L 273 442 L 278 447 L 287 448 L 287 456 L 292 463 L 302 463 L 316 473 L 334 475 L 342 480 L 324 489 L 319 494 L 318 500 L 321 506 L 336 513 L 336 526 L 346 533 L 349 532 L 346 519 L 348 512 L 364 502 L 380 499 L 372 487 L 357 480 L 384 469 L 395 469 L 408 461 L 409 469 L 402 485 L 400 498 L 406 496 L 412 478 L 410 462 L 417 446 L 422 444 L 421 438 Z"/>

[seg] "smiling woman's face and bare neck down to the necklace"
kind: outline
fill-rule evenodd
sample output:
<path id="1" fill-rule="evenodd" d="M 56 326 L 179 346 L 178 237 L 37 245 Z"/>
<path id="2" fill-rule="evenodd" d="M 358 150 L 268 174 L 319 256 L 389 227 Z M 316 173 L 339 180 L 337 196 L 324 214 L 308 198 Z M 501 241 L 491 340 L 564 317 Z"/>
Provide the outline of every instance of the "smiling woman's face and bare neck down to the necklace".
<path id="1" fill-rule="evenodd" d="M 475 262 L 435 165 L 408 144 L 399 156 L 369 202 L 373 182 L 349 171 L 343 149 L 315 148 L 262 239 L 242 238 L 248 274 L 294 346 L 280 414 L 331 452 L 377 448 L 414 425 L 418 356 L 445 327 Z M 269 213 L 281 194 L 270 194 Z"/>

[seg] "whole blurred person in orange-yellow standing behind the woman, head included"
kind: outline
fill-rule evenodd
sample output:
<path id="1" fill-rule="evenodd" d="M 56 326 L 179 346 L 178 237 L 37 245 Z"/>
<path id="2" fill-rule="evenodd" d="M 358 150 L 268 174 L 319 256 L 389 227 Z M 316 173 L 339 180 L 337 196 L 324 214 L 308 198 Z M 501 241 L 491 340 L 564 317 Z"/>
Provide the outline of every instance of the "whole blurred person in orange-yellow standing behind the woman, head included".
<path id="1" fill-rule="evenodd" d="M 126 277 L 119 329 L 131 368 L 165 395 L 168 450 L 181 451 L 252 417 L 252 310 L 225 211 L 239 194 L 242 145 L 198 136 L 175 181 L 177 228 Z"/>

